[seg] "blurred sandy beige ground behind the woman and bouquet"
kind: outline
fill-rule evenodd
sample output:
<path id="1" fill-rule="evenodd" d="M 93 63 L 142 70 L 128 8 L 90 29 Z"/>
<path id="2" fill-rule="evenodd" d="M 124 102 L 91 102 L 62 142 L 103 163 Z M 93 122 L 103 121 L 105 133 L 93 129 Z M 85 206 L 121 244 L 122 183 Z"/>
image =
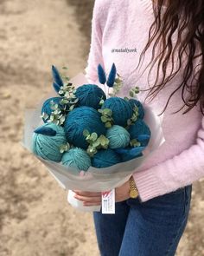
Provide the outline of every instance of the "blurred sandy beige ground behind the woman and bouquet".
<path id="1" fill-rule="evenodd" d="M 70 207 L 67 192 L 20 144 L 25 108 L 51 89 L 51 64 L 67 66 L 71 77 L 84 72 L 93 3 L 0 0 L 1 256 L 99 255 L 92 214 Z M 203 185 L 194 183 L 177 256 L 204 255 Z"/>

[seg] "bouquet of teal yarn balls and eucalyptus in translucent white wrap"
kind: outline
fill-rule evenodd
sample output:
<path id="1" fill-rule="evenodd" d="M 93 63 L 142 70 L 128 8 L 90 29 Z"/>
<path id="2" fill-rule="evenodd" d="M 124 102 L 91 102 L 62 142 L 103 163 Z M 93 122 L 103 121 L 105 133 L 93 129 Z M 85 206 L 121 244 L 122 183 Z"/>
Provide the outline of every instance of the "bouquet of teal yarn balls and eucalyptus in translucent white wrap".
<path id="1" fill-rule="evenodd" d="M 52 75 L 53 92 L 27 111 L 23 145 L 64 189 L 105 192 L 121 186 L 162 145 L 160 119 L 138 101 L 138 87 L 117 96 L 123 80 L 114 63 L 109 75 L 99 64 L 98 84 L 83 74 L 70 80 L 54 66 Z M 83 210 L 100 208 L 82 207 L 72 191 L 68 200 Z"/>

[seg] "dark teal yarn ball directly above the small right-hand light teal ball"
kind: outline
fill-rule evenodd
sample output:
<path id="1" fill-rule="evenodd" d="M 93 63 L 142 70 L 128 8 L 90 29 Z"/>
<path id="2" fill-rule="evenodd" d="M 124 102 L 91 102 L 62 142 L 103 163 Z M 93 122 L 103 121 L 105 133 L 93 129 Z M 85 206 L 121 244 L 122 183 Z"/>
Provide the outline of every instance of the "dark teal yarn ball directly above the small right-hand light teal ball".
<path id="1" fill-rule="evenodd" d="M 133 114 L 131 104 L 119 97 L 111 97 L 107 99 L 102 108 L 111 109 L 114 124 L 123 127 L 127 125 L 128 119 L 130 119 Z"/>

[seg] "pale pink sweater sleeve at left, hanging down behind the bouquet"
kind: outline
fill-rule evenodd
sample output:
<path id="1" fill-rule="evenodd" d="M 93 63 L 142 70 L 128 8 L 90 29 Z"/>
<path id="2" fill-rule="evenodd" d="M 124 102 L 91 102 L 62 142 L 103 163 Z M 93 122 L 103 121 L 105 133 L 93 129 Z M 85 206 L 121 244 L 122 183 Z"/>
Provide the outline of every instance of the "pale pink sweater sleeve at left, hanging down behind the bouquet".
<path id="1" fill-rule="evenodd" d="M 92 36 L 90 51 L 86 65 L 86 78 L 89 82 L 98 80 L 97 68 L 99 63 L 104 67 L 102 56 L 102 29 L 100 20 L 103 17 L 103 1 L 96 0 L 92 11 Z"/>

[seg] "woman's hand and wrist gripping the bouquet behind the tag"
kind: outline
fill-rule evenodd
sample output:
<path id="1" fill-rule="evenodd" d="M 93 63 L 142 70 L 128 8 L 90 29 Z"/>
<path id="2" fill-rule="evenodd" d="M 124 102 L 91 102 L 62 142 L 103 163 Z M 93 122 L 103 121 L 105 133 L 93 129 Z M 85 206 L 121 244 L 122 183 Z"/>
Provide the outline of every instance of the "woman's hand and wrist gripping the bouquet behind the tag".
<path id="1" fill-rule="evenodd" d="M 83 201 L 83 205 L 86 207 L 101 205 L 101 193 L 100 192 L 86 192 L 80 190 L 73 190 L 75 198 Z M 115 188 L 115 200 L 120 202 L 130 198 L 130 183 L 126 181 L 121 187 Z"/>

